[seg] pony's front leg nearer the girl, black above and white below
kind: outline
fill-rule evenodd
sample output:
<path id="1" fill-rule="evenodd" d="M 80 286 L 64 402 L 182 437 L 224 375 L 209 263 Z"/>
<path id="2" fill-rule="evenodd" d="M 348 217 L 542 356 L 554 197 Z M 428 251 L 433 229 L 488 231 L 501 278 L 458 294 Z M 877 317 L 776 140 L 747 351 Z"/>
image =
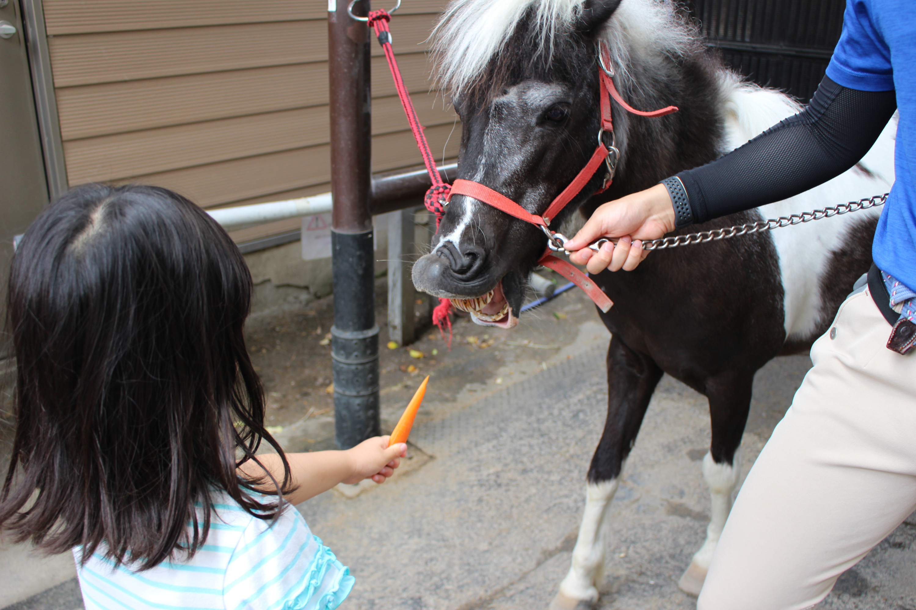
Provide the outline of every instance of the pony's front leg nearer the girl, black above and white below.
<path id="1" fill-rule="evenodd" d="M 605 517 L 620 473 L 662 371 L 648 356 L 616 336 L 607 350 L 608 401 L 605 431 L 588 470 L 585 510 L 573 548 L 573 564 L 551 610 L 587 610 L 598 601 L 605 573 Z"/>

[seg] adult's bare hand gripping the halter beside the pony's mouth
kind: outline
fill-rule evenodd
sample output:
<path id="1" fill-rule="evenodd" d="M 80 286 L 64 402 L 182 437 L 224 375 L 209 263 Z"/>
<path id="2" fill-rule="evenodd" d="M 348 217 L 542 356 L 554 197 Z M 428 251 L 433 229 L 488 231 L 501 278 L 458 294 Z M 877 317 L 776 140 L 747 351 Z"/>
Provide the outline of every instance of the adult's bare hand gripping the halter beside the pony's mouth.
<path id="1" fill-rule="evenodd" d="M 642 240 L 657 240 L 672 230 L 674 206 L 668 189 L 658 184 L 595 209 L 592 218 L 564 245 L 573 251 L 570 261 L 585 265 L 588 273 L 633 271 L 649 255 L 642 249 Z M 616 246 L 608 242 L 600 251 L 590 250 L 588 244 L 601 237 L 620 239 Z"/>

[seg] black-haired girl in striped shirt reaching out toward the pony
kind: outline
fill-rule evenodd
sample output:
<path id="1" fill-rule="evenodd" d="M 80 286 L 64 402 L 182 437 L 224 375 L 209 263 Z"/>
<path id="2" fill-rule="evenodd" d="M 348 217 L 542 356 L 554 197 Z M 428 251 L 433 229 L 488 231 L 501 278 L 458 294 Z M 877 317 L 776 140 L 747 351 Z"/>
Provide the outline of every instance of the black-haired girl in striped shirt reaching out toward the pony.
<path id="1" fill-rule="evenodd" d="M 0 530 L 72 550 L 86 608 L 327 610 L 349 594 L 288 505 L 384 482 L 406 445 L 284 455 L 245 350 L 251 291 L 225 231 L 165 188 L 74 188 L 19 244 Z M 277 455 L 255 455 L 262 439 Z"/>

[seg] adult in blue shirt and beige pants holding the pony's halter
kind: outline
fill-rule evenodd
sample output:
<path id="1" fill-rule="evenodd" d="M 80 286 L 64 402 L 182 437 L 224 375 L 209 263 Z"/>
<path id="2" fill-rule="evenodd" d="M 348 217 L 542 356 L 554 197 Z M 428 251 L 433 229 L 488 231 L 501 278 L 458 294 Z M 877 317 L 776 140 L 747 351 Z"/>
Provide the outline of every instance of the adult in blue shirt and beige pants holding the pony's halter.
<path id="1" fill-rule="evenodd" d="M 916 16 L 847 0 L 843 33 L 801 113 L 729 155 L 605 203 L 572 241 L 590 273 L 632 271 L 641 240 L 788 198 L 853 166 L 895 110 L 896 182 L 877 269 L 845 300 L 725 525 L 701 610 L 808 608 L 916 508 Z M 616 248 L 592 252 L 598 237 Z M 740 239 L 740 238 L 737 238 Z"/>

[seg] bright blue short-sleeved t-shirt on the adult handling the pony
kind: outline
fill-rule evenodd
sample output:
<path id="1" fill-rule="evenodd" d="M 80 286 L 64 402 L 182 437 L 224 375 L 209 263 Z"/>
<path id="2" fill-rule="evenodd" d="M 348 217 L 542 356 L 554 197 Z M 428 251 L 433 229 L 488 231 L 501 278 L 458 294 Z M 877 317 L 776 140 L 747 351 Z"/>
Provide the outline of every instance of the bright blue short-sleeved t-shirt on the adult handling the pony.
<path id="1" fill-rule="evenodd" d="M 827 76 L 859 91 L 897 91 L 896 180 L 881 210 L 872 258 L 916 288 L 916 16 L 912 0 L 846 0 Z"/>

